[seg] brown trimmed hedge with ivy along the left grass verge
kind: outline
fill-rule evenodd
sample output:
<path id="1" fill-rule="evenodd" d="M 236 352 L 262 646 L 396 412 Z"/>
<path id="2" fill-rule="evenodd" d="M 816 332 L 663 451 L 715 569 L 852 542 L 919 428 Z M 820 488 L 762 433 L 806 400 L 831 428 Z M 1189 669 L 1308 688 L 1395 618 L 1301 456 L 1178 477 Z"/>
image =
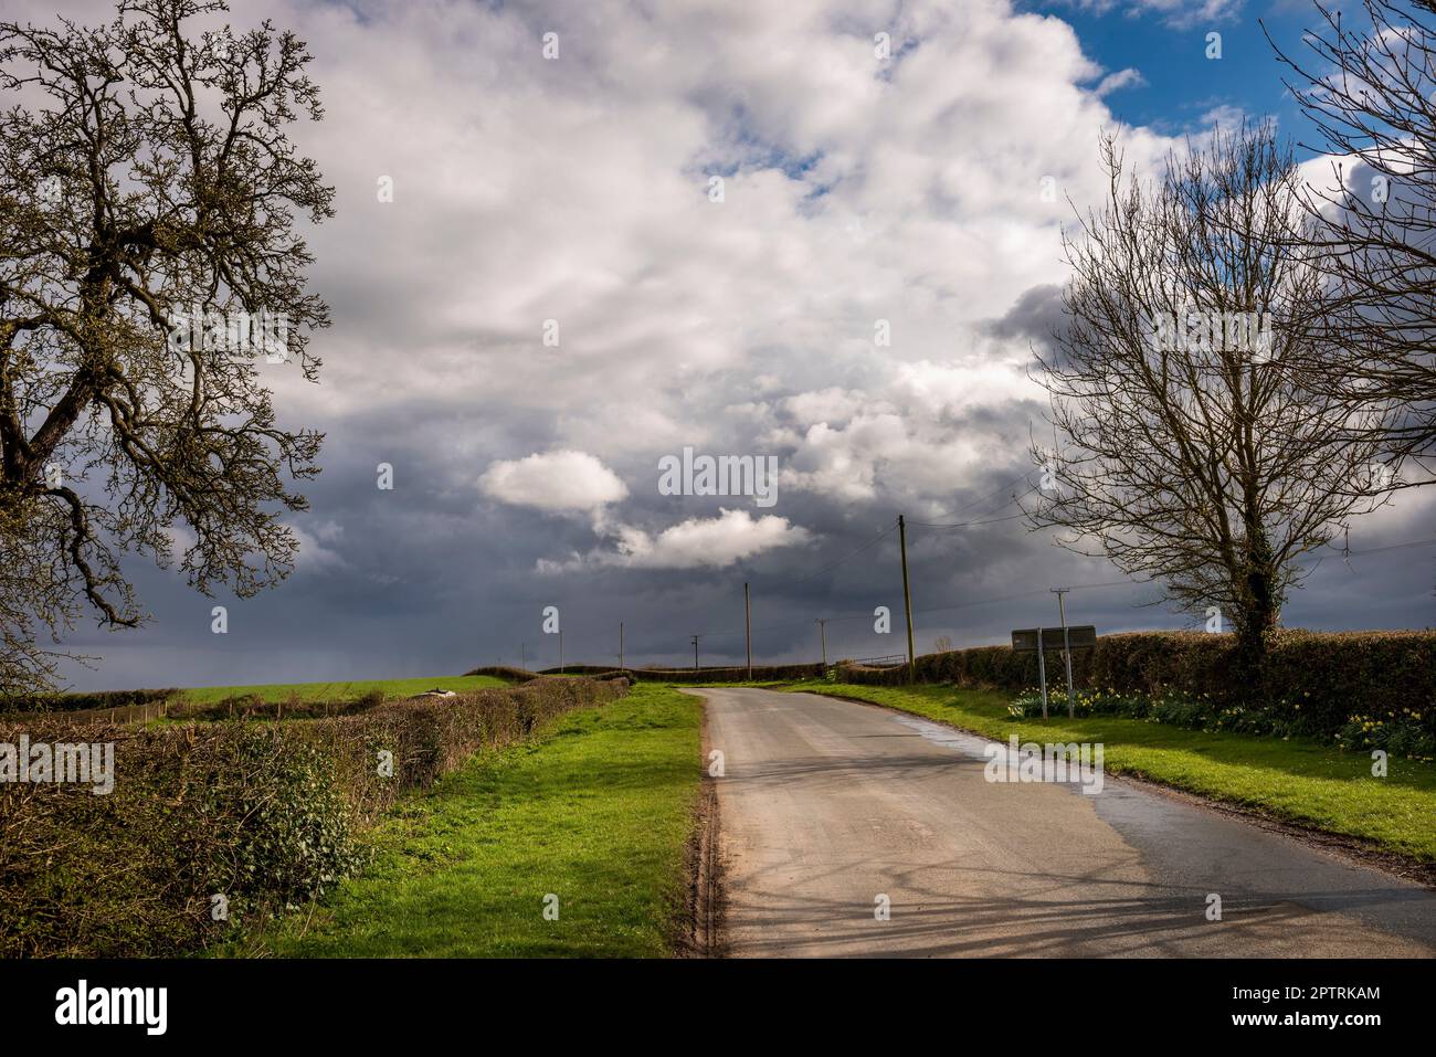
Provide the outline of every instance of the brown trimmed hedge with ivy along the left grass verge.
<path id="1" fill-rule="evenodd" d="M 304 722 L 0 721 L 11 745 L 115 742 L 106 796 L 0 783 L 0 956 L 165 956 L 225 939 L 352 872 L 355 836 L 401 791 L 626 692 L 622 679 L 534 679 Z M 233 925 L 213 921 L 214 895 Z"/>

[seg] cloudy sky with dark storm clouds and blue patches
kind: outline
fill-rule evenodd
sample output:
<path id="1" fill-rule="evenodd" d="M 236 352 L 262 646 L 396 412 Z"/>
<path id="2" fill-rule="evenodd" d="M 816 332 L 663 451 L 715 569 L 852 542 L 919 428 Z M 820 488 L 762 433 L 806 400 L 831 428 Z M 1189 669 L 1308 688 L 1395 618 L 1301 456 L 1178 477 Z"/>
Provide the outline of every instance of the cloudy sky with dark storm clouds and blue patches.
<path id="1" fill-rule="evenodd" d="M 819 618 L 830 659 L 900 653 L 898 514 L 919 652 L 1053 623 L 1060 586 L 1099 632 L 1193 626 L 1014 516 L 1044 431 L 1027 368 L 1099 135 L 1147 172 L 1244 115 L 1310 139 L 1258 19 L 1297 50 L 1314 9 L 238 0 L 230 22 L 266 17 L 309 42 L 326 116 L 292 135 L 337 192 L 309 233 L 320 382 L 264 368 L 281 421 L 327 437 L 297 569 L 240 600 L 132 563 L 154 619 L 76 628 L 101 662 L 73 686 L 553 665 L 549 606 L 570 662 L 616 661 L 620 623 L 629 663 L 692 663 L 694 635 L 741 662 L 744 583 L 755 662 L 816 659 Z M 666 494 L 685 448 L 771 457 L 771 504 Z M 1430 626 L 1436 547 L 1379 550 L 1432 537 L 1427 493 L 1313 557 L 1285 623 Z M 928 527 L 954 521 L 979 524 Z"/>

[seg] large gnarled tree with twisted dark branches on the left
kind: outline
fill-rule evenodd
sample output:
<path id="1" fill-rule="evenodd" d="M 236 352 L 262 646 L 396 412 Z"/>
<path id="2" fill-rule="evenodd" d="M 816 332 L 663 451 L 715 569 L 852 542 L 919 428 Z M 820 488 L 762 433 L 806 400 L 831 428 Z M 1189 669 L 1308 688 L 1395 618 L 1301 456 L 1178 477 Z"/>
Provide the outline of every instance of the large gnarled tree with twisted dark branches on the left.
<path id="1" fill-rule="evenodd" d="M 322 116 L 304 43 L 223 3 L 126 0 L 101 27 L 0 23 L 0 692 L 55 675 L 86 610 L 144 618 L 126 551 L 208 592 L 287 574 L 286 478 L 320 437 L 276 424 L 261 360 L 319 362 L 327 309 L 294 230 L 333 190 L 284 128 Z M 250 325 L 258 333 L 247 333 Z"/>

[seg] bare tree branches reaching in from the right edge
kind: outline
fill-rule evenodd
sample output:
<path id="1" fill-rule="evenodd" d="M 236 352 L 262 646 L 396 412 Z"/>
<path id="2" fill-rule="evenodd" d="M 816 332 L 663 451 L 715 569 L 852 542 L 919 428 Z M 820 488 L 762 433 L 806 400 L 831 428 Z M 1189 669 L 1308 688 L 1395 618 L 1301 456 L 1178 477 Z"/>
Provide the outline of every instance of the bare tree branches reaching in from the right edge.
<path id="1" fill-rule="evenodd" d="M 1305 194 L 1328 277 L 1337 356 L 1313 365 L 1383 439 L 1394 472 L 1429 484 L 1436 457 L 1436 0 L 1363 0 L 1367 24 L 1315 4 L 1298 62 L 1277 47 L 1287 86 L 1335 155 Z M 1269 39 L 1269 36 L 1268 36 Z M 1272 45 L 1275 47 L 1275 43 Z"/>

